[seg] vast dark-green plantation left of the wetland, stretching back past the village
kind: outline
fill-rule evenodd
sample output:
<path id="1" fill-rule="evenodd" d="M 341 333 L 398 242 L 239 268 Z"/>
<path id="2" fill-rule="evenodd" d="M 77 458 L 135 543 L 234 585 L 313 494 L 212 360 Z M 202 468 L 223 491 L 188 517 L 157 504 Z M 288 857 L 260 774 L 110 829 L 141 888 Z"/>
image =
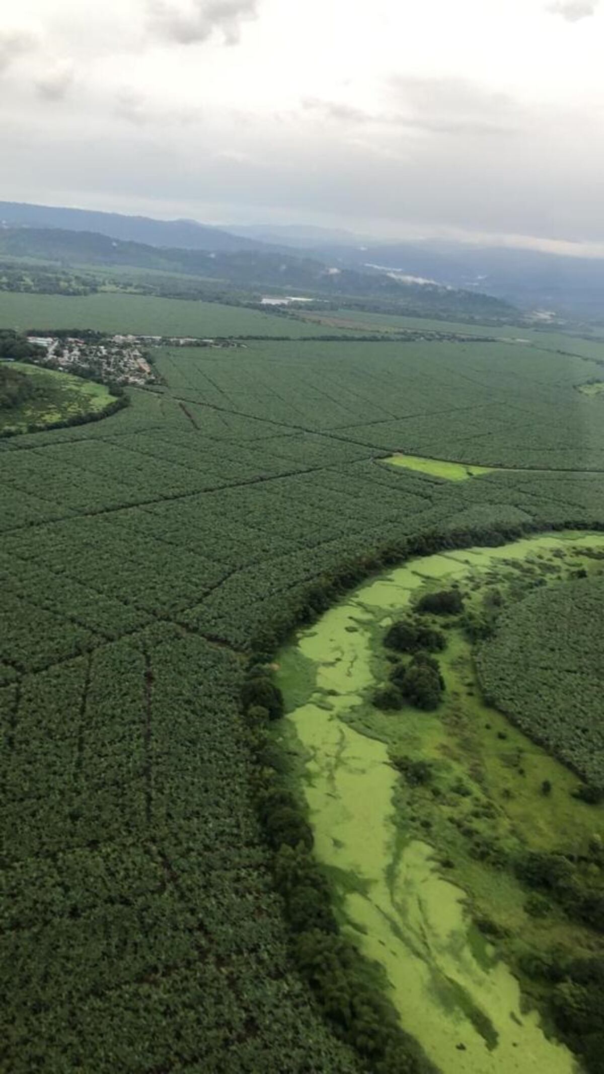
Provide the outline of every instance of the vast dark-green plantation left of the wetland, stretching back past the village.
<path id="1" fill-rule="evenodd" d="M 106 331 L 295 328 L 114 295 L 11 295 L 2 322 L 75 326 L 74 303 Z M 604 526 L 604 400 L 576 390 L 604 346 L 585 346 L 178 348 L 163 391 L 0 442 L 2 1069 L 364 1069 L 290 960 L 245 657 L 347 563 Z M 450 482 L 379 462 L 394 451 L 533 469 Z"/>

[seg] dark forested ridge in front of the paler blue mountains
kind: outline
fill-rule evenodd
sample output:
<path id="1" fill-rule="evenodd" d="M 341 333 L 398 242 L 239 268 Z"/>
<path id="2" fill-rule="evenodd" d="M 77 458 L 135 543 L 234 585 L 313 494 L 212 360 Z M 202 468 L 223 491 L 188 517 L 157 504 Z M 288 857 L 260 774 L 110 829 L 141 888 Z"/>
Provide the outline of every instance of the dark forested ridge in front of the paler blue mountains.
<path id="1" fill-rule="evenodd" d="M 281 251 L 236 252 L 159 248 L 121 242 L 87 231 L 57 228 L 0 230 L 0 257 L 28 257 L 73 265 L 121 265 L 203 276 L 238 288 L 288 288 L 325 297 L 395 300 L 401 309 L 470 319 L 514 320 L 516 310 L 499 299 L 439 285 L 393 279 L 373 270 L 334 268 L 314 258 Z"/>

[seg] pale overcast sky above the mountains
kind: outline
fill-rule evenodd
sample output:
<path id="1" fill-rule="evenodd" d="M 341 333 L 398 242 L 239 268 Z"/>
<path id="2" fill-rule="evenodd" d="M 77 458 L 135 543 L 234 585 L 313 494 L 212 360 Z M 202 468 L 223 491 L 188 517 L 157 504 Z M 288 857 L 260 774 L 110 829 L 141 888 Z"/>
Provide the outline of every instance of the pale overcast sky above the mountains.
<path id="1" fill-rule="evenodd" d="M 604 251 L 604 0 L 0 14 L 0 199 Z"/>

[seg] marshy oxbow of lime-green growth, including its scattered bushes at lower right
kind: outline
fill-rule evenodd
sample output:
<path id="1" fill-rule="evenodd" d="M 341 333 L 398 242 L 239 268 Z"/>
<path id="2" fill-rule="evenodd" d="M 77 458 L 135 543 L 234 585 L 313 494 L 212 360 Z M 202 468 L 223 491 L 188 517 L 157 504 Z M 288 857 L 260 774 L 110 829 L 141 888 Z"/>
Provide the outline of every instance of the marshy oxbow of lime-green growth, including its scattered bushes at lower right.
<path id="1" fill-rule="evenodd" d="M 462 584 L 476 615 L 484 608 L 512 615 L 537 581 L 539 595 L 600 584 L 603 553 L 603 537 L 564 535 L 411 560 L 296 638 L 304 679 L 285 723 L 295 727 L 299 759 L 288 785 L 306 774 L 314 853 L 332 881 L 340 928 L 382 964 L 403 1027 L 452 1074 L 468 1059 L 473 1070 L 522 1070 L 527 1055 L 539 1069 L 574 1070 L 527 1000 L 588 1071 L 600 1070 L 604 816 L 590 816 L 593 807 L 573 797 L 572 773 L 480 699 L 462 619 L 448 627 L 438 661 L 419 651 L 394 667 L 381 644 L 400 635 L 402 651 L 413 652 L 409 633 L 417 621 L 380 622 L 428 597 L 439 615 L 443 596 L 459 590 L 434 593 L 430 577 Z M 568 582 L 577 570 L 587 577 Z M 427 670 L 446 692 L 424 706 L 401 687 Z M 375 694 L 384 673 L 391 685 Z M 291 672 L 285 681 L 295 685 Z M 601 708 L 592 712 L 601 723 Z M 283 744 L 295 756 L 288 732 Z M 388 760 L 401 782 L 386 774 Z M 488 943 L 478 942 L 476 928 Z"/>

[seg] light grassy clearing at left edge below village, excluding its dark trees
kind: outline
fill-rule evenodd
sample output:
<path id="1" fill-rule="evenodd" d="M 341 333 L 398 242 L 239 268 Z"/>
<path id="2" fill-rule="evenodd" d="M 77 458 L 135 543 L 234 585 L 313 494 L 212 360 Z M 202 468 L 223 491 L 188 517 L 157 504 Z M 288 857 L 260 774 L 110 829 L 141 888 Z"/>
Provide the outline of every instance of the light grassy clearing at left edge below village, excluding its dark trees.
<path id="1" fill-rule="evenodd" d="M 83 380 L 68 373 L 41 369 L 25 362 L 11 362 L 11 368 L 30 377 L 34 393 L 10 410 L 0 410 L 0 435 L 25 433 L 32 426 L 53 426 L 59 422 L 101 415 L 115 403 L 105 384 Z"/>

